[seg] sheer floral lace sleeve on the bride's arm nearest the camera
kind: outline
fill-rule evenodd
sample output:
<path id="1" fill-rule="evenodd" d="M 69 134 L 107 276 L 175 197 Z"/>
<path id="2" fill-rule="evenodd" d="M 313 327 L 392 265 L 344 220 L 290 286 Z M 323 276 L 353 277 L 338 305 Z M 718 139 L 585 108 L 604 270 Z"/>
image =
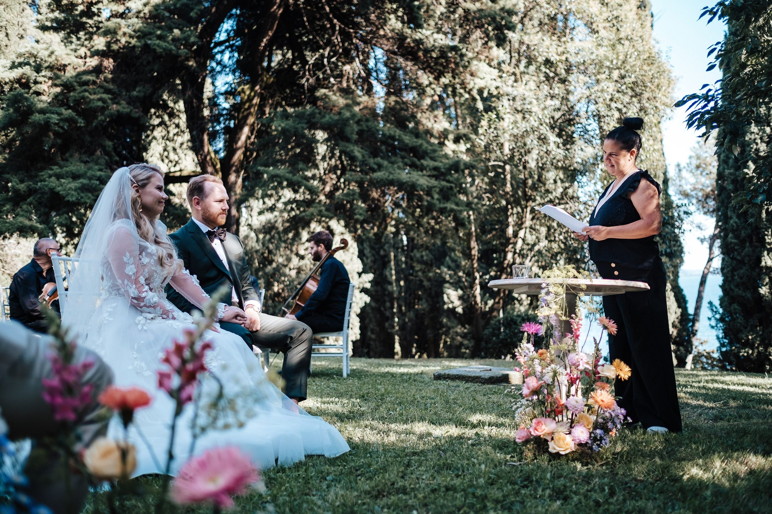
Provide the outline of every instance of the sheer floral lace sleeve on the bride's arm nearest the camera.
<path id="1" fill-rule="evenodd" d="M 126 227 L 118 227 L 107 245 L 107 259 L 118 286 L 131 305 L 143 313 L 171 318 L 172 309 L 145 283 L 140 262 L 139 242 Z"/>

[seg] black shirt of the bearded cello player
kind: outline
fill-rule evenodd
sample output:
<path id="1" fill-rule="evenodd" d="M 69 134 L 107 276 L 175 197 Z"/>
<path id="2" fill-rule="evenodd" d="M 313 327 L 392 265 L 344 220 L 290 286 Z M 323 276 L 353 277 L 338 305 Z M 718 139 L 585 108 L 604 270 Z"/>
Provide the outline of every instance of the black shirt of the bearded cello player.
<path id="1" fill-rule="evenodd" d="M 338 259 L 330 257 L 319 270 L 319 286 L 295 317 L 303 321 L 311 314 L 327 316 L 343 323 L 348 299 L 348 272 Z"/>

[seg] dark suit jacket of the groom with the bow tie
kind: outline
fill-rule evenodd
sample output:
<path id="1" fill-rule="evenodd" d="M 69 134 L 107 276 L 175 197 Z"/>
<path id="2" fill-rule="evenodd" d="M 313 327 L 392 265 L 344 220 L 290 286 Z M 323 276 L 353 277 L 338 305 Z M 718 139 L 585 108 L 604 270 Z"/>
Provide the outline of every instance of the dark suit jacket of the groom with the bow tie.
<path id="1" fill-rule="evenodd" d="M 222 242 L 230 272 L 225 269 L 222 259 L 215 252 L 206 234 L 192 219 L 177 232 L 170 234 L 169 238 L 177 248 L 179 258 L 185 262 L 185 269 L 198 278 L 198 282 L 201 282 L 201 289 L 204 289 L 210 296 L 223 284 L 227 284 L 229 287 L 235 286 L 236 295 L 239 296 L 239 306 L 242 308 L 246 300 L 259 300 L 257 291 L 249 282 L 249 265 L 247 265 L 244 247 L 238 236 L 229 232 L 225 236 L 225 241 Z M 186 313 L 195 309 L 195 306 L 188 302 L 185 296 L 182 296 L 171 286 L 166 287 L 166 295 L 171 303 Z M 230 298 L 231 295 L 229 294 L 223 302 L 230 305 Z"/>

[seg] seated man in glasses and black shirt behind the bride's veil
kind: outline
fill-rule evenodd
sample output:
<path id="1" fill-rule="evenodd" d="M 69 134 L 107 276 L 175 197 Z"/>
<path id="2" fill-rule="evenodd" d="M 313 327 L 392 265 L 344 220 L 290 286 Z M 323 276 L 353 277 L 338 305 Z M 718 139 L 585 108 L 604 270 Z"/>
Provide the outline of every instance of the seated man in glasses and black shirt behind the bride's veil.
<path id="1" fill-rule="evenodd" d="M 59 244 L 56 241 L 52 238 L 38 239 L 32 251 L 32 260 L 13 276 L 8 294 L 11 319 L 19 321 L 36 332 L 45 333 L 49 328 L 38 298 L 44 286 L 55 281 L 51 262 L 52 252 L 59 253 Z M 59 301 L 54 300 L 51 308 L 59 313 Z"/>

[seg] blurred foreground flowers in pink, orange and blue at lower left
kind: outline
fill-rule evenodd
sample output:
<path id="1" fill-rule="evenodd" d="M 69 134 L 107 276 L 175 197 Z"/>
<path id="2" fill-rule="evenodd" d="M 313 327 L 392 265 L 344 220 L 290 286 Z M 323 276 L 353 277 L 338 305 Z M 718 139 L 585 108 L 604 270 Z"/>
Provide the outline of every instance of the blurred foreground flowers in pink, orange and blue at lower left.
<path id="1" fill-rule="evenodd" d="M 108 482 L 105 488 L 107 508 L 110 512 L 122 512 L 120 506 L 129 496 L 149 497 L 154 502 L 154 512 L 168 512 L 168 499 L 180 505 L 203 503 L 212 506 L 213 512 L 221 512 L 233 506 L 232 495 L 239 495 L 250 485 L 261 489 L 257 469 L 242 455 L 238 448 L 215 448 L 205 451 L 198 457 L 193 457 L 196 436 L 211 428 L 209 425 L 196 424 L 199 414 L 198 404 L 201 402 L 202 374 L 207 374 L 217 384 L 213 398 L 208 398 L 206 408 L 212 412 L 212 417 L 221 417 L 227 407 L 221 404 L 232 404 L 234 399 L 225 397 L 223 387 L 218 378 L 212 374 L 205 364 L 206 353 L 212 349 L 212 343 L 205 341 L 205 332 L 212 328 L 217 312 L 217 302 L 222 296 L 229 294 L 222 289 L 212 296 L 205 306 L 203 316 L 196 320 L 195 330 L 185 330 L 182 340 L 175 340 L 174 345 L 161 356 L 161 362 L 168 366 L 167 370 L 157 372 L 157 384 L 161 391 L 174 401 L 171 413 L 171 434 L 168 441 L 166 463 L 163 467 L 168 475 L 174 460 L 174 433 L 178 418 L 187 404 L 194 407 L 194 440 L 189 449 L 187 462 L 182 466 L 178 477 L 164 480 L 160 487 L 141 485 L 130 480 L 137 468 L 137 450 L 128 439 L 128 430 L 134 421 L 137 409 L 151 404 L 153 397 L 139 387 L 107 387 L 96 400 L 103 406 L 105 415 L 117 415 L 123 425 L 123 437 L 115 440 L 100 437 L 91 442 L 88 448 L 78 452 L 76 446 L 81 442 L 76 430 L 76 421 L 82 418 L 86 407 L 93 404 L 95 391 L 93 385 L 84 384 L 86 373 L 93 367 L 93 362 L 85 361 L 75 364 L 73 356 L 76 343 L 67 342 L 68 336 L 56 316 L 49 314 L 48 320 L 52 326 L 52 353 L 49 360 L 52 364 L 50 379 L 43 379 L 43 398 L 50 405 L 54 419 L 59 423 L 59 435 L 53 441 L 39 441 L 61 455 L 60 462 L 70 470 L 75 469 L 90 482 L 92 487 L 100 489 L 103 482 Z M 109 414 L 108 414 L 109 413 Z M 212 425 L 213 426 L 213 425 Z M 138 428 L 137 428 L 138 430 Z M 0 418 L 0 465 L 13 458 L 15 448 L 5 436 L 7 427 Z M 140 435 L 144 438 L 144 435 Z M 157 468 L 162 468 L 151 449 L 151 457 L 156 461 Z M 19 468 L 19 466 L 15 466 Z M 6 470 L 0 466 L 0 493 L 12 500 L 12 504 L 0 505 L 0 512 L 10 514 L 15 512 L 39 512 L 49 514 L 46 507 L 32 502 L 29 496 L 18 490 L 26 483 L 25 477 L 14 470 Z M 9 484 L 6 486 L 6 484 Z M 171 487 L 171 491 L 170 491 Z M 100 511 L 97 505 L 93 507 Z"/>

